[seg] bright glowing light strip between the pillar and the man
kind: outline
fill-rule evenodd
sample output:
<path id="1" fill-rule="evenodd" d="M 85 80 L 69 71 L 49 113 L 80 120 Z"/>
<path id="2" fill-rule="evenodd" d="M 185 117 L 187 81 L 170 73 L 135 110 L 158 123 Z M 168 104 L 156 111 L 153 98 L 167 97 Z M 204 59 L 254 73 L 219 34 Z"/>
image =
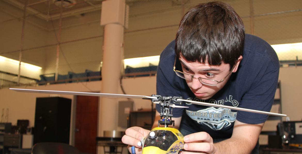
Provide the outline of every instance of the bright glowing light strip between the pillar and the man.
<path id="1" fill-rule="evenodd" d="M 147 67 L 152 65 L 158 65 L 159 56 L 149 56 L 149 57 L 139 57 L 139 58 L 129 58 L 124 59 L 124 67 L 130 66 L 133 68 Z"/>

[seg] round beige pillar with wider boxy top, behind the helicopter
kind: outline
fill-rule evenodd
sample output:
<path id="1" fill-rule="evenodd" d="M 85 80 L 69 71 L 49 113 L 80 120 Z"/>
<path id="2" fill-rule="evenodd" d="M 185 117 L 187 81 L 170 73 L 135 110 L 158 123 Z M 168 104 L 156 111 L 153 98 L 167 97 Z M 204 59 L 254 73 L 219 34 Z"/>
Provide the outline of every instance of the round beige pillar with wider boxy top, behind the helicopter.
<path id="1" fill-rule="evenodd" d="M 125 27 L 125 0 L 102 2 L 101 26 L 104 26 L 102 93 L 117 93 L 122 69 Z M 117 129 L 117 98 L 101 97 L 98 136 Z M 98 149 L 98 153 L 101 150 Z"/>

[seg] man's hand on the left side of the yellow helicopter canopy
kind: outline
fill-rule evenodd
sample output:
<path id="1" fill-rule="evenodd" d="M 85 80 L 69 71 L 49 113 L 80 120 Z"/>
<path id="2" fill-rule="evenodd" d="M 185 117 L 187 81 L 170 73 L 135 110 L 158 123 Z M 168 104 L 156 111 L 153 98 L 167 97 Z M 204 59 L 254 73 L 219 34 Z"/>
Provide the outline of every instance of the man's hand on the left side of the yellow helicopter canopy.
<path id="1" fill-rule="evenodd" d="M 141 127 L 130 127 L 126 129 L 126 134 L 122 137 L 122 142 L 128 144 L 128 150 L 131 153 L 131 146 L 135 146 L 137 154 L 142 153 L 142 146 L 138 146 L 137 142 L 140 142 L 145 136 L 149 134 L 149 130 Z"/>

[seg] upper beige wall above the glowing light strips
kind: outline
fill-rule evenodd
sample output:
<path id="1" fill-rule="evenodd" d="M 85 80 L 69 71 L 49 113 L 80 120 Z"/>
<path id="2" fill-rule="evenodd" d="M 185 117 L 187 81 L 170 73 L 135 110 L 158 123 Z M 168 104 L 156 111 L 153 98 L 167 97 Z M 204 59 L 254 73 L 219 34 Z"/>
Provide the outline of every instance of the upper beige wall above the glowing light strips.
<path id="1" fill-rule="evenodd" d="M 197 3 L 208 0 L 190 0 L 185 4 L 185 11 Z M 251 32 L 249 0 L 225 0 L 237 11 L 246 26 L 246 33 Z M 302 42 L 302 11 L 286 14 L 257 16 L 271 12 L 282 12 L 301 9 L 300 0 L 254 0 L 254 34 L 270 44 Z M 23 11 L 5 2 L 0 2 L 0 22 L 16 17 L 22 17 Z M 136 1 L 129 3 L 129 29 L 125 30 L 125 58 L 159 55 L 166 45 L 175 38 L 178 23 L 181 20 L 181 7 L 170 0 Z M 14 14 L 12 16 L 11 14 Z M 32 48 L 53 44 L 23 53 L 23 61 L 43 67 L 43 73 L 54 73 L 56 63 L 56 38 L 58 20 L 43 21 L 30 16 L 25 25 L 24 48 Z M 85 13 L 85 15 L 63 18 L 62 42 L 63 53 L 59 57 L 59 74 L 68 71 L 76 73 L 85 69 L 99 71 L 102 61 L 103 27 L 100 26 L 100 11 Z M 40 25 L 35 26 L 35 25 Z M 42 28 L 41 28 L 42 27 Z M 22 20 L 9 20 L 0 24 L 0 55 L 18 59 L 17 53 L 1 54 L 6 51 L 20 49 Z M 45 30 L 47 29 L 47 30 Z M 95 37 L 92 39 L 85 39 Z M 65 57 L 63 56 L 65 55 Z M 295 55 L 291 56 L 295 59 Z M 1 67 L 1 66 L 0 66 Z"/>

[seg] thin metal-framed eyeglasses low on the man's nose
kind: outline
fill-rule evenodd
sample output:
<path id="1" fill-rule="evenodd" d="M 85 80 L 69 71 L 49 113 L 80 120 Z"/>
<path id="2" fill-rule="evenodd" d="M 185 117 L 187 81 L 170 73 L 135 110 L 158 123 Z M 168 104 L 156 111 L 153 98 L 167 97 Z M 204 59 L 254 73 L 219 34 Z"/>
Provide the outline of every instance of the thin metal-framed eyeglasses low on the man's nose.
<path id="1" fill-rule="evenodd" d="M 173 71 L 176 73 L 176 75 L 178 77 L 181 77 L 185 80 L 193 80 L 194 79 L 198 79 L 199 82 L 201 82 L 202 84 L 205 84 L 205 85 L 208 85 L 208 86 L 217 86 L 218 83 L 221 83 L 232 71 L 233 69 L 235 68 L 236 65 L 233 66 L 232 70 L 226 74 L 226 76 L 221 79 L 220 81 L 216 81 L 216 80 L 212 80 L 212 79 L 207 79 L 207 78 L 202 78 L 202 77 L 194 77 L 194 75 L 190 75 L 190 74 L 186 74 L 182 71 L 178 71 L 178 70 L 175 70 L 175 63 L 176 63 L 176 57 L 175 57 L 175 61 L 174 61 L 174 67 L 173 67 Z"/>

